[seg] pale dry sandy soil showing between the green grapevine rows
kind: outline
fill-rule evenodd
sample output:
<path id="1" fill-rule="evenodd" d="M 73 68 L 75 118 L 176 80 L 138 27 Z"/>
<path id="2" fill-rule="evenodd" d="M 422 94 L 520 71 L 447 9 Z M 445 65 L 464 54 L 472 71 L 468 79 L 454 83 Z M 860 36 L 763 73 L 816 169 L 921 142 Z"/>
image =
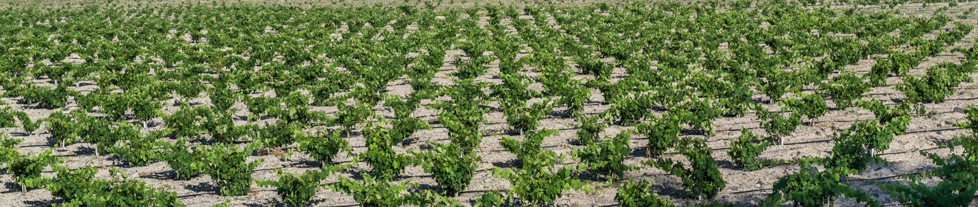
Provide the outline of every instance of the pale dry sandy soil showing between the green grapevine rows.
<path id="1" fill-rule="evenodd" d="M 918 10 L 918 8 L 920 8 L 919 4 L 905 5 L 901 8 L 906 8 L 904 11 L 907 13 L 907 15 L 926 15 L 931 14 L 934 9 L 939 8 L 941 5 L 942 4 L 932 5 L 927 10 Z M 958 7 L 969 8 L 974 5 L 976 4 L 962 3 L 961 6 Z M 972 25 L 975 24 L 974 18 L 956 20 L 967 22 Z M 973 32 L 972 34 L 968 35 L 964 38 L 964 41 L 958 43 L 956 46 L 970 46 L 973 43 L 972 40 L 974 40 L 976 37 L 976 33 L 978 32 Z M 446 61 L 451 61 L 452 56 L 454 56 L 453 52 L 458 53 L 460 51 L 449 52 Z M 927 68 L 939 62 L 957 62 L 961 58 L 962 56 L 959 53 L 944 52 L 939 54 L 937 57 L 925 59 L 920 66 L 911 71 L 911 74 L 922 74 L 923 68 Z M 850 65 L 849 68 L 865 73 L 873 64 L 874 62 L 872 60 L 863 60 L 857 65 Z M 445 67 L 442 69 L 443 71 L 436 75 L 436 81 L 438 81 L 439 84 L 448 85 L 453 79 L 448 76 L 448 73 L 451 73 L 454 70 L 454 66 L 446 63 Z M 498 72 L 498 68 L 496 65 L 492 65 L 490 72 L 480 77 L 479 80 L 489 83 L 499 83 L 499 80 L 494 79 L 492 75 L 496 72 Z M 624 74 L 624 70 L 620 68 L 616 69 L 615 72 L 618 76 Z M 530 73 L 529 70 L 525 70 L 524 73 L 531 76 L 536 75 Z M 978 74 L 971 74 L 971 77 L 978 78 Z M 579 78 L 588 79 L 590 77 L 581 76 Z M 893 88 L 893 86 L 900 81 L 899 78 L 891 77 L 887 81 L 888 86 L 873 88 L 872 91 L 866 94 L 865 98 L 878 99 L 890 106 L 899 103 L 901 99 L 904 98 L 904 95 L 901 94 L 899 90 Z M 35 83 L 40 85 L 49 84 L 46 82 L 46 80 L 36 80 Z M 87 92 L 93 90 L 95 87 L 96 86 L 94 85 L 83 85 L 80 87 L 74 87 L 72 89 Z M 534 87 L 537 89 L 542 89 L 542 86 L 539 84 L 534 85 Z M 933 166 L 929 159 L 919 155 L 919 152 L 926 151 L 940 155 L 947 155 L 949 153 L 948 150 L 937 149 L 934 143 L 948 140 L 957 134 L 963 134 L 965 132 L 963 129 L 960 129 L 951 123 L 954 121 L 963 121 L 964 115 L 960 112 L 961 108 L 964 108 L 967 105 L 978 104 L 978 89 L 976 88 L 978 88 L 978 85 L 976 84 L 965 83 L 961 85 L 958 88 L 958 92 L 956 92 L 955 95 L 950 96 L 947 101 L 937 104 L 926 104 L 928 111 L 933 111 L 933 113 L 914 118 L 911 121 L 910 128 L 908 130 L 909 132 L 906 135 L 895 138 L 889 150 L 880 152 L 880 156 L 886 158 L 891 163 L 870 166 L 867 172 L 854 176 L 851 179 L 851 184 L 861 190 L 867 190 L 867 192 L 872 194 L 875 199 L 880 200 L 883 203 L 895 204 L 894 200 L 889 197 L 888 193 L 876 188 L 875 184 L 902 182 L 903 180 L 896 177 L 897 175 L 911 173 Z M 403 80 L 395 81 L 390 83 L 388 90 L 388 92 L 392 94 L 404 95 L 410 92 L 410 86 L 404 84 Z M 597 114 L 606 110 L 608 106 L 600 104 L 602 99 L 600 96 L 600 91 L 594 90 L 592 93 L 593 103 L 588 104 L 584 111 L 589 114 Z M 757 100 L 766 100 L 763 95 L 757 95 L 755 98 Z M 46 118 L 53 112 L 44 109 L 24 107 L 22 104 L 18 104 L 17 100 L 18 99 L 13 98 L 3 98 L 3 101 L 10 103 L 13 108 L 23 110 L 30 114 L 31 119 Z M 177 107 L 174 106 L 174 102 L 175 99 L 167 100 L 163 111 L 167 114 L 171 114 L 177 110 Z M 207 99 L 205 96 L 194 99 L 191 102 L 195 105 L 209 105 L 209 99 Z M 766 102 L 767 101 L 763 101 L 763 103 Z M 830 102 L 829 106 L 832 106 Z M 76 104 L 73 101 L 70 101 L 67 109 L 72 109 L 74 107 L 76 107 Z M 776 105 L 765 105 L 765 107 L 769 109 L 778 108 Z M 239 116 L 246 117 L 246 108 L 243 103 L 237 103 L 234 108 L 239 111 Z M 315 109 L 325 111 L 331 115 L 335 111 L 334 107 L 316 107 Z M 392 112 L 382 107 L 377 107 L 375 110 L 377 111 L 378 115 L 387 117 L 392 117 L 393 115 Z M 561 110 L 563 109 L 555 109 L 555 111 Z M 436 121 L 436 113 L 437 112 L 434 110 L 422 108 L 419 109 L 415 115 L 422 118 L 422 120 L 434 122 Z M 501 112 L 489 113 L 485 116 L 485 118 L 488 121 L 484 123 L 481 128 L 484 130 L 484 134 L 486 134 L 486 136 L 483 138 L 482 145 L 478 150 L 478 155 L 483 157 L 483 160 L 480 169 L 475 175 L 475 178 L 471 181 L 471 186 L 456 197 L 456 199 L 462 201 L 463 203 L 474 202 L 474 199 L 478 198 L 478 196 L 485 190 L 505 190 L 510 188 L 510 184 L 507 181 L 494 178 L 492 176 L 491 169 L 494 167 L 508 167 L 510 166 L 511 162 L 515 160 L 515 156 L 503 150 L 503 148 L 499 145 L 499 142 L 505 136 L 518 137 L 519 135 L 507 134 L 507 124 L 505 117 Z M 784 145 L 770 147 L 761 155 L 761 157 L 791 160 L 802 156 L 828 155 L 828 152 L 832 148 L 830 137 L 835 131 L 835 128 L 845 128 L 855 121 L 865 121 L 870 119 L 873 119 L 872 114 L 867 110 L 859 108 L 832 110 L 822 119 L 815 121 L 811 126 L 808 124 L 800 125 L 795 133 L 787 136 Z M 244 122 L 244 119 L 238 120 L 239 124 L 244 124 Z M 264 120 L 259 122 L 274 122 L 274 120 Z M 569 155 L 571 151 L 579 148 L 570 144 L 571 141 L 575 139 L 575 124 L 576 121 L 561 114 L 555 113 L 552 116 L 545 118 L 542 122 L 542 127 L 558 129 L 559 132 L 555 136 L 548 137 L 545 140 L 543 144 L 544 148 L 564 155 Z M 741 127 L 747 127 L 753 130 L 756 134 L 764 134 L 765 132 L 762 128 L 760 128 L 759 122 L 755 120 L 755 116 L 752 113 L 744 117 L 722 117 L 717 119 L 714 124 L 716 125 L 716 136 L 704 137 L 696 134 L 686 134 L 684 136 L 694 136 L 706 139 L 709 147 L 714 149 L 713 156 L 717 159 L 724 179 L 728 182 L 727 188 L 720 192 L 716 198 L 717 200 L 729 201 L 739 205 L 757 204 L 766 197 L 767 193 L 771 191 L 772 184 L 776 182 L 779 177 L 799 170 L 798 166 L 793 164 L 781 164 L 751 172 L 743 171 L 737 167 L 734 167 L 733 163 L 731 162 L 731 158 L 726 153 L 726 149 L 729 147 L 730 141 L 739 136 L 739 129 Z M 156 130 L 163 127 L 162 121 L 159 119 L 152 121 L 150 125 L 152 127 L 148 130 Z M 409 143 L 407 145 L 404 147 L 395 147 L 395 150 L 397 150 L 399 153 L 404 153 L 407 149 L 419 150 L 424 143 L 428 141 L 447 142 L 447 130 L 440 124 L 432 124 L 432 126 L 434 128 L 431 130 L 422 130 L 417 132 L 412 138 L 408 139 Z M 630 128 L 632 127 L 612 125 L 601 133 L 601 135 L 613 136 L 619 131 Z M 22 153 L 39 153 L 51 148 L 48 144 L 50 134 L 43 127 L 33 135 L 22 133 L 22 129 L 20 128 L 6 128 L 4 130 L 8 131 L 14 138 L 24 139 L 24 142 L 18 145 L 19 151 Z M 364 152 L 366 150 L 364 147 L 364 140 L 359 133 L 354 133 L 349 141 L 355 153 Z M 631 146 L 633 147 L 634 152 L 632 153 L 632 156 L 627 159 L 627 163 L 641 165 L 642 161 L 648 159 L 644 156 L 645 143 L 646 140 L 644 135 L 633 136 Z M 291 147 L 294 147 L 294 145 Z M 189 181 L 175 181 L 172 179 L 172 177 L 175 175 L 174 172 L 165 162 L 156 161 L 149 166 L 127 167 L 123 164 L 122 160 L 111 155 L 95 156 L 93 148 L 94 146 L 89 144 L 73 144 L 65 148 L 55 149 L 55 155 L 65 158 L 65 164 L 71 167 L 79 167 L 84 165 L 103 166 L 102 169 L 106 169 L 107 167 L 119 167 L 123 172 L 127 173 L 132 178 L 144 180 L 154 186 L 168 187 L 169 190 L 173 190 L 179 194 L 181 201 L 188 206 L 207 206 L 224 202 L 226 200 L 230 200 L 233 206 L 286 205 L 278 200 L 278 196 L 276 195 L 274 189 L 254 187 L 248 195 L 221 196 L 216 193 L 217 188 L 215 183 L 212 182 L 212 180 L 206 175 L 201 175 L 200 177 Z M 674 154 L 666 156 L 677 158 L 682 157 L 682 155 Z M 275 169 L 284 169 L 289 172 L 302 172 L 305 170 L 318 168 L 318 163 L 313 161 L 313 159 L 308 157 L 308 155 L 301 153 L 296 153 L 291 157 L 280 157 L 276 155 L 248 156 L 248 160 L 260 158 L 263 158 L 265 161 L 261 163 L 253 174 L 253 178 L 258 180 L 276 179 L 277 177 Z M 348 162 L 350 160 L 351 156 L 349 155 L 342 155 L 337 159 L 338 162 Z M 369 169 L 369 167 L 364 164 L 361 164 L 361 167 L 362 169 Z M 43 175 L 54 176 L 54 173 L 49 167 L 44 171 Z M 349 177 L 355 175 L 350 173 L 340 173 L 338 176 Z M 110 178 L 109 171 L 101 170 L 97 177 L 103 179 Z M 671 176 L 663 172 L 662 170 L 645 166 L 641 170 L 627 173 L 626 177 L 629 179 L 649 179 L 653 181 L 657 192 L 669 197 L 674 202 L 686 203 L 691 201 L 684 198 L 685 190 L 682 189 L 681 180 L 675 176 Z M 333 178 L 326 182 L 335 182 L 336 180 L 336 178 Z M 5 184 L 5 186 L 0 189 L 0 200 L 3 201 L 0 202 L 0 206 L 50 206 L 52 203 L 61 202 L 61 200 L 53 197 L 48 190 L 35 189 L 27 192 L 21 192 L 21 188 L 14 183 L 14 180 L 9 173 L 0 175 L 0 182 Z M 422 172 L 422 169 L 417 166 L 408 167 L 406 173 L 403 174 L 401 182 L 417 183 L 420 184 L 422 188 L 435 188 L 436 186 L 430 175 Z M 582 191 L 566 191 L 563 196 L 557 200 L 556 205 L 610 206 L 616 204 L 614 201 L 616 188 L 614 186 L 606 186 L 600 182 L 595 182 L 593 186 L 600 191 L 594 194 L 587 194 Z M 840 199 L 837 204 L 841 206 L 858 205 L 848 199 Z M 312 205 L 356 206 L 357 203 L 351 196 L 345 193 L 332 190 L 322 190 L 313 197 Z"/>

